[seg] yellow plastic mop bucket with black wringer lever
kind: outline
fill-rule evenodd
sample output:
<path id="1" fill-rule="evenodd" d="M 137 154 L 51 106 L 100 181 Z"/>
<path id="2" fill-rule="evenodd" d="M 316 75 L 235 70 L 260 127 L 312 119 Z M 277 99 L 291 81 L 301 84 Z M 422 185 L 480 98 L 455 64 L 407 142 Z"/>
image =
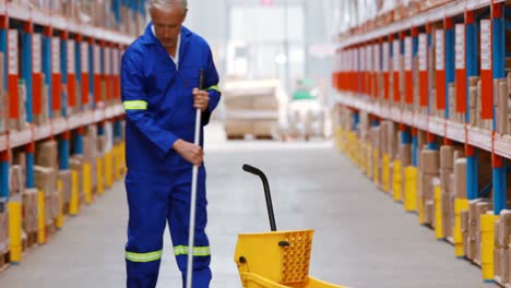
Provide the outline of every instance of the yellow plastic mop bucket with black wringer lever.
<path id="1" fill-rule="evenodd" d="M 271 232 L 238 236 L 235 262 L 245 288 L 342 288 L 309 276 L 313 230 L 277 231 L 266 176 L 255 167 L 243 170 L 261 178 Z"/>

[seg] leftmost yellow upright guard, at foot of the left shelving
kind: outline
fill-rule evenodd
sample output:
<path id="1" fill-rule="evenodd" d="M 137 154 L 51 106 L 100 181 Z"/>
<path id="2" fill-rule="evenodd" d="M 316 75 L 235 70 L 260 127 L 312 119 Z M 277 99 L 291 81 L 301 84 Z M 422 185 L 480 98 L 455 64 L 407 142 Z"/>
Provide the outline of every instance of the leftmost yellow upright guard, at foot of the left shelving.
<path id="1" fill-rule="evenodd" d="M 22 207 L 21 200 L 10 199 L 9 204 L 9 247 L 11 249 L 11 263 L 22 261 Z"/>

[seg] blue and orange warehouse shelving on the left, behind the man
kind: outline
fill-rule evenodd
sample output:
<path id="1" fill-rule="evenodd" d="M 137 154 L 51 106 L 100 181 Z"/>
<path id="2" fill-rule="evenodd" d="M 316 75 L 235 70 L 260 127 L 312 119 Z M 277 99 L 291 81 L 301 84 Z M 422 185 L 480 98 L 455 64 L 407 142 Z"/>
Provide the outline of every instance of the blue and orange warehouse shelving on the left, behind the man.
<path id="1" fill-rule="evenodd" d="M 143 8 L 143 1 L 122 1 L 122 5 L 120 2 L 115 11 L 119 16 L 116 19 L 120 19 L 121 8 L 142 13 L 140 3 Z M 35 189 L 36 143 L 57 140 L 58 168 L 68 170 L 70 157 L 84 153 L 86 128 L 97 127 L 98 136 L 111 132 L 112 143 L 106 145 L 107 151 L 95 164 L 99 181 L 96 193 L 100 194 L 104 185 L 109 187 L 112 180 L 120 178 L 124 110 L 120 103 L 119 65 L 122 51 L 132 40 L 132 36 L 79 23 L 60 14 L 0 1 L 0 52 L 4 56 L 4 77 L 0 80 L 0 87 L 2 94 L 9 95 L 9 106 L 3 108 L 8 111 L 7 132 L 0 130 L 0 213 L 9 211 L 10 226 L 8 249 L 2 250 L 0 243 L 0 269 L 7 264 L 7 253 L 9 262 L 16 264 L 22 260 L 23 250 L 21 197 L 10 195 L 13 151 L 25 153 L 25 188 Z M 25 87 L 26 93 L 21 93 L 20 87 Z M 17 129 L 11 128 L 11 122 L 20 121 Z M 84 164 L 83 172 L 90 173 L 90 164 Z M 79 185 L 76 179 L 73 177 L 73 189 Z M 83 189 L 91 190 L 91 183 L 84 180 Z M 91 195 L 85 197 L 90 203 Z M 69 215 L 78 214 L 80 204 L 75 204 L 78 207 L 69 208 Z M 45 197 L 39 195 L 38 207 L 43 211 L 39 217 L 44 216 L 44 205 Z M 57 227 L 60 228 L 61 219 Z M 39 220 L 39 243 L 47 241 L 48 235 L 41 231 L 45 229 L 48 230 Z"/>

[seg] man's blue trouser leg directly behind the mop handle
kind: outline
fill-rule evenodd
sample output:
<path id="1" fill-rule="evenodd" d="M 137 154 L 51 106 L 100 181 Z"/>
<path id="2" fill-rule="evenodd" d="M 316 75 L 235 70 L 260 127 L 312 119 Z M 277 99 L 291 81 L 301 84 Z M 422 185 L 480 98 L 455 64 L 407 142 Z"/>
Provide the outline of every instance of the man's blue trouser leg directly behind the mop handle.
<path id="1" fill-rule="evenodd" d="M 190 218 L 190 176 L 183 175 L 183 179 L 188 178 L 188 183 L 175 185 L 171 192 L 170 212 L 168 223 L 170 227 L 170 237 L 173 239 L 176 262 L 181 271 L 182 284 L 185 287 L 187 275 L 188 261 L 188 230 Z M 206 215 L 206 197 L 205 197 L 205 171 L 204 168 L 199 169 L 198 185 L 197 185 L 197 212 L 195 212 L 195 241 L 193 256 L 193 288 L 210 287 L 211 271 L 210 271 L 210 241 L 205 233 L 207 223 Z"/>

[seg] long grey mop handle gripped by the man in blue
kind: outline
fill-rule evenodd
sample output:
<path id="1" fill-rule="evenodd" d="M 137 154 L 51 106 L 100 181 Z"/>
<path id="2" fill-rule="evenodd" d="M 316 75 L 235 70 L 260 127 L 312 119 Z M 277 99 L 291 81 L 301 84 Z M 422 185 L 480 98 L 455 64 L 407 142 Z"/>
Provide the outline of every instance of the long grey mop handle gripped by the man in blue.
<path id="1" fill-rule="evenodd" d="M 204 82 L 204 70 L 199 71 L 199 89 L 202 89 Z M 195 111 L 195 136 L 193 144 L 199 145 L 201 136 L 201 109 Z M 199 166 L 193 165 L 192 171 L 192 191 L 190 199 L 190 230 L 188 231 L 188 262 L 187 262 L 187 288 L 192 287 L 192 273 L 193 273 L 193 239 L 195 238 L 195 205 L 197 205 L 197 178 L 199 173 Z"/>

